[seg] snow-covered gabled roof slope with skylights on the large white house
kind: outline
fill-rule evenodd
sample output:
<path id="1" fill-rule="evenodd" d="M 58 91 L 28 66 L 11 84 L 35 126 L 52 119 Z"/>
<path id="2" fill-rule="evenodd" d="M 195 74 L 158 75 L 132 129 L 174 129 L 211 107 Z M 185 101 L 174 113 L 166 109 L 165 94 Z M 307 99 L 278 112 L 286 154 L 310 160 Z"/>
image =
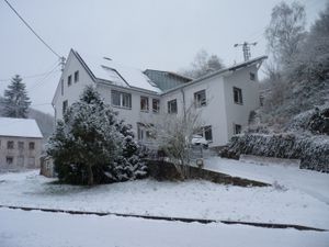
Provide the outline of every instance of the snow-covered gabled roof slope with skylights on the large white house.
<path id="1" fill-rule="evenodd" d="M 76 50 L 75 53 L 97 79 L 105 80 L 120 87 L 143 89 L 156 93 L 162 92 L 140 69 L 123 66 L 101 56 L 80 54 Z"/>

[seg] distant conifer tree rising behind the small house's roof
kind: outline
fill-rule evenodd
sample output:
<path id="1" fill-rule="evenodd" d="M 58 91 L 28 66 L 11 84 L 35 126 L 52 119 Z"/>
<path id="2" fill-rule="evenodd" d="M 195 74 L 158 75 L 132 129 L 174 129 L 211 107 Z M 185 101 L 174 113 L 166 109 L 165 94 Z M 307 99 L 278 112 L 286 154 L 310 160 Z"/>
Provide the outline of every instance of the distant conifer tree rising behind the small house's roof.
<path id="1" fill-rule="evenodd" d="M 30 98 L 22 82 L 22 78 L 15 75 L 8 89 L 4 90 L 4 110 L 3 115 L 8 117 L 26 119 L 29 106 L 31 104 Z"/>

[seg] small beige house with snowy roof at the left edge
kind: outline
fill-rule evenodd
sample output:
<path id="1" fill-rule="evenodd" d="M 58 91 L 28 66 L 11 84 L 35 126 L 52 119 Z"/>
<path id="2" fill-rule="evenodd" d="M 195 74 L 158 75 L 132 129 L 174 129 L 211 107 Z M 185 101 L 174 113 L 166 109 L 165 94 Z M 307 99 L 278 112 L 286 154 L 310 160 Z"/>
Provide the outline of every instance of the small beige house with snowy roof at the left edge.
<path id="1" fill-rule="evenodd" d="M 30 119 L 0 117 L 0 169 L 39 167 L 43 135 Z"/>

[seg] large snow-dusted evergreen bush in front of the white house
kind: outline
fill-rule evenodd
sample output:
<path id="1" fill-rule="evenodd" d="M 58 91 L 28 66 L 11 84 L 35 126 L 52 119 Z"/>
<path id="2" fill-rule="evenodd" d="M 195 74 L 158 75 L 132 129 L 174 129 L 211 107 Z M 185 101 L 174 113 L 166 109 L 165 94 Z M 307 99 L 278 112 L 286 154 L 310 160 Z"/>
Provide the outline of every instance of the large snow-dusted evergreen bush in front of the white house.
<path id="1" fill-rule="evenodd" d="M 132 126 L 87 87 L 48 141 L 59 180 L 76 184 L 125 181 L 146 175 Z"/>

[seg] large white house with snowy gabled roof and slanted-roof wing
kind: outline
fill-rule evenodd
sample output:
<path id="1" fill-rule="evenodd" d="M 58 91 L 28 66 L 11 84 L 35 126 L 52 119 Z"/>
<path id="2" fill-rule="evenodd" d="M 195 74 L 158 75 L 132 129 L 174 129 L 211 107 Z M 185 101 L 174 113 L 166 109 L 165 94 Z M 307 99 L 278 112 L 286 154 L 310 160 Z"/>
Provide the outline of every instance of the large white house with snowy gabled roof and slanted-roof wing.
<path id="1" fill-rule="evenodd" d="M 183 114 L 194 103 L 202 109 L 202 134 L 211 146 L 223 146 L 260 105 L 258 70 L 264 59 L 250 59 L 192 80 L 169 71 L 141 71 L 110 58 L 97 60 L 71 49 L 53 99 L 55 119 L 63 119 L 68 105 L 92 85 L 132 124 L 140 142 L 148 138 L 143 123 L 163 113 Z"/>

